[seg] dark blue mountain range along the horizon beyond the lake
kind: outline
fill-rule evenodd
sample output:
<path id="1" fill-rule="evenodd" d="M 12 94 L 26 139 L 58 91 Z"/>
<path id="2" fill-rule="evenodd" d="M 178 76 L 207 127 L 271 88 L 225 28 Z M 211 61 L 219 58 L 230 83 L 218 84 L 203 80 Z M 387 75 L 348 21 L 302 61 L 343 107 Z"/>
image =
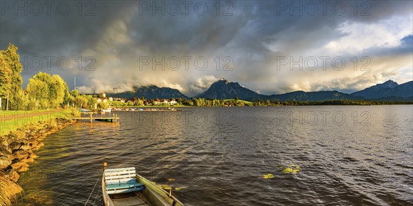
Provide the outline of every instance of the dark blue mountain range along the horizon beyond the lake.
<path id="1" fill-rule="evenodd" d="M 134 87 L 133 91 L 123 93 L 111 93 L 108 96 L 116 98 L 140 98 L 145 99 L 171 99 L 184 98 L 189 99 L 186 95 L 180 93 L 178 89 L 169 87 L 156 87 L 149 85 L 145 87 Z M 388 80 L 382 84 L 376 84 L 361 91 L 354 93 L 342 93 L 339 91 L 293 91 L 284 94 L 262 95 L 242 87 L 238 82 L 220 79 L 211 84 L 207 91 L 195 95 L 194 98 L 205 99 L 234 99 L 256 101 L 256 100 L 275 100 L 275 101 L 299 101 L 312 102 L 324 100 L 381 100 L 381 101 L 412 101 L 413 100 L 413 81 L 404 84 L 397 84 Z"/>

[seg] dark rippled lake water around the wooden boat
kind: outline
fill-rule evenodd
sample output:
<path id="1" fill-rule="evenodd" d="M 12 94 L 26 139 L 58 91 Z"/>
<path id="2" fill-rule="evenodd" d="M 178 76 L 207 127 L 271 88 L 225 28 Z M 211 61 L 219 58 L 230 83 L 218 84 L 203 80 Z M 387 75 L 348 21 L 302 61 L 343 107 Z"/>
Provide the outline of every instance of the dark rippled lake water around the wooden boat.
<path id="1" fill-rule="evenodd" d="M 48 136 L 19 205 L 84 205 L 103 161 L 175 179 L 187 205 L 413 204 L 413 105 L 181 109 Z M 301 171 L 284 174 L 291 164 Z M 89 203 L 102 205 L 100 179 Z"/>

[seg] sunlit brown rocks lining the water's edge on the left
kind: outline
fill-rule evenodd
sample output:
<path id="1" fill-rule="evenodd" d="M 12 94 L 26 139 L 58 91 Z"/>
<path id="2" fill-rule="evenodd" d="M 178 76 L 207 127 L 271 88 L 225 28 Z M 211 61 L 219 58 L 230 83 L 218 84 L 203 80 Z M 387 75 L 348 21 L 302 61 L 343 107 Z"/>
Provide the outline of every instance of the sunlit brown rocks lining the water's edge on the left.
<path id="1" fill-rule="evenodd" d="M 32 163 L 37 158 L 34 152 L 44 146 L 43 139 L 47 135 L 72 124 L 72 122 L 75 122 L 75 120 L 49 119 L 23 126 L 16 131 L 10 132 L 8 135 L 0 136 L 0 181 L 10 182 L 6 184 L 6 188 L 0 189 L 8 191 L 8 187 L 10 187 L 10 190 L 17 191 L 15 188 L 19 188 L 19 191 L 14 193 L 18 194 L 21 192 L 22 189 L 17 184 L 20 178 L 19 173 L 29 170 L 29 163 Z M 1 195 L 4 194 L 0 192 L 0 199 L 2 199 Z M 10 196 L 11 194 L 8 195 Z M 13 196 L 9 197 L 9 199 L 12 199 Z"/>

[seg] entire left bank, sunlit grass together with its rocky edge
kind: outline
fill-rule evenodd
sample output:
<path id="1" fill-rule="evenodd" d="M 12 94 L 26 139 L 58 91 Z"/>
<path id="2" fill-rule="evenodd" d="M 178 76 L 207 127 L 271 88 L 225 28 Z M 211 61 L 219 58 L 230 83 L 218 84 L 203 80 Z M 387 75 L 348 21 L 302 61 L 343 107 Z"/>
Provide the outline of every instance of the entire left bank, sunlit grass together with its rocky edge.
<path id="1" fill-rule="evenodd" d="M 22 195 L 17 184 L 21 172 L 34 162 L 34 151 L 44 146 L 43 139 L 61 130 L 77 115 L 75 110 L 2 111 L 0 121 L 0 206 L 11 205 Z"/>

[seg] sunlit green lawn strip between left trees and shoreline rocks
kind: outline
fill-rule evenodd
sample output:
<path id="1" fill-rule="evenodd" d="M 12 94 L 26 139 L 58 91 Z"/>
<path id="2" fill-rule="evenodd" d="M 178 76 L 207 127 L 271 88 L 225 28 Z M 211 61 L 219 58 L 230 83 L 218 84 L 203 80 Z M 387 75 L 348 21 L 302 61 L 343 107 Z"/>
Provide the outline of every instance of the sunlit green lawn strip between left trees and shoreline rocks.
<path id="1" fill-rule="evenodd" d="M 26 124 L 31 124 L 39 121 L 46 121 L 56 117 L 68 117 L 70 110 L 62 111 L 2 111 L 0 116 L 0 135 L 6 135 L 10 131 L 17 130 L 17 128 Z"/>

